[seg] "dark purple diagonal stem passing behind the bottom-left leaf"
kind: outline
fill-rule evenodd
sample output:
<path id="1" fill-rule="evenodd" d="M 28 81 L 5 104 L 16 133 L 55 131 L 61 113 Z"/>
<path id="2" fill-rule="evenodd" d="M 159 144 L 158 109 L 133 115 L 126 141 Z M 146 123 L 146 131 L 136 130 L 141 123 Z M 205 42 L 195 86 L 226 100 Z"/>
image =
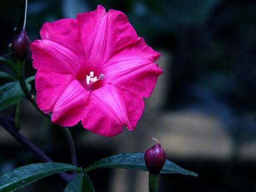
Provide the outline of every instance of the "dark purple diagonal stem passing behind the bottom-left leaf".
<path id="1" fill-rule="evenodd" d="M 11 119 L 9 117 L 5 117 L 4 115 L 0 114 L 0 124 L 2 127 L 8 131 L 9 134 L 12 135 L 19 143 L 27 147 L 30 151 L 32 151 L 37 157 L 44 162 L 53 162 L 50 157 L 48 157 L 43 151 L 41 151 L 37 146 L 32 144 L 30 141 L 27 140 L 21 133 L 19 133 L 12 125 Z M 67 173 L 59 173 L 58 174 L 63 180 L 69 182 L 74 178 L 73 174 Z"/>

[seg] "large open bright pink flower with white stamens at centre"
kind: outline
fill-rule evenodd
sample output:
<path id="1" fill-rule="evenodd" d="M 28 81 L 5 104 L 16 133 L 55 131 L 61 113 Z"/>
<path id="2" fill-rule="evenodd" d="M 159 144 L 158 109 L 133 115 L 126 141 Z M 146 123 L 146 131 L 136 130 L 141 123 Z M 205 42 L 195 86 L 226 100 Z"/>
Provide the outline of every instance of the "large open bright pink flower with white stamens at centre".
<path id="1" fill-rule="evenodd" d="M 136 127 L 162 69 L 126 15 L 99 5 L 45 23 L 31 44 L 37 105 L 53 123 L 114 136 Z"/>

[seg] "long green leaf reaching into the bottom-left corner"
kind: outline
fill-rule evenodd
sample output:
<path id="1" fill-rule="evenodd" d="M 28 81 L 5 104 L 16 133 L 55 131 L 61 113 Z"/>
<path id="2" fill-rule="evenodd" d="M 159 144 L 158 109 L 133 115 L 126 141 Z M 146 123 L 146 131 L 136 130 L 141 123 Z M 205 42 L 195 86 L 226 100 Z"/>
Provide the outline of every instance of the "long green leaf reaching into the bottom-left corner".
<path id="1" fill-rule="evenodd" d="M 35 163 L 25 165 L 0 177 L 0 191 L 14 191 L 40 178 L 64 171 L 81 171 L 65 163 Z"/>

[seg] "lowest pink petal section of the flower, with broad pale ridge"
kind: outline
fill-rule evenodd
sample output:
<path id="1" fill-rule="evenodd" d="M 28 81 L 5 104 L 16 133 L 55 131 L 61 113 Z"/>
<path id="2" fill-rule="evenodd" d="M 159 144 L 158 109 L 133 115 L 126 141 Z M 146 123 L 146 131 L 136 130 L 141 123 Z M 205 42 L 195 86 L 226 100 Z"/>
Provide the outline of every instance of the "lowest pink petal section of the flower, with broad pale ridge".
<path id="1" fill-rule="evenodd" d="M 142 98 L 136 96 L 112 85 L 91 92 L 83 127 L 107 137 L 122 133 L 123 125 L 133 130 L 144 107 Z"/>

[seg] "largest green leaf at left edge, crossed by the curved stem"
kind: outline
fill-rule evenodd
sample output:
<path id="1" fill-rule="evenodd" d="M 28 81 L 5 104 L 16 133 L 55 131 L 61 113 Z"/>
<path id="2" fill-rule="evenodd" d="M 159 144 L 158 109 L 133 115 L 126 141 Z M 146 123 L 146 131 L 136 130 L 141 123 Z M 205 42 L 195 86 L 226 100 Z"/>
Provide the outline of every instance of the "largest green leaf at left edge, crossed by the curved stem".
<path id="1" fill-rule="evenodd" d="M 28 85 L 29 91 L 31 90 L 31 85 Z M 22 100 L 25 95 L 19 86 L 18 81 L 8 82 L 0 87 L 0 110 L 15 104 L 16 102 Z"/>

